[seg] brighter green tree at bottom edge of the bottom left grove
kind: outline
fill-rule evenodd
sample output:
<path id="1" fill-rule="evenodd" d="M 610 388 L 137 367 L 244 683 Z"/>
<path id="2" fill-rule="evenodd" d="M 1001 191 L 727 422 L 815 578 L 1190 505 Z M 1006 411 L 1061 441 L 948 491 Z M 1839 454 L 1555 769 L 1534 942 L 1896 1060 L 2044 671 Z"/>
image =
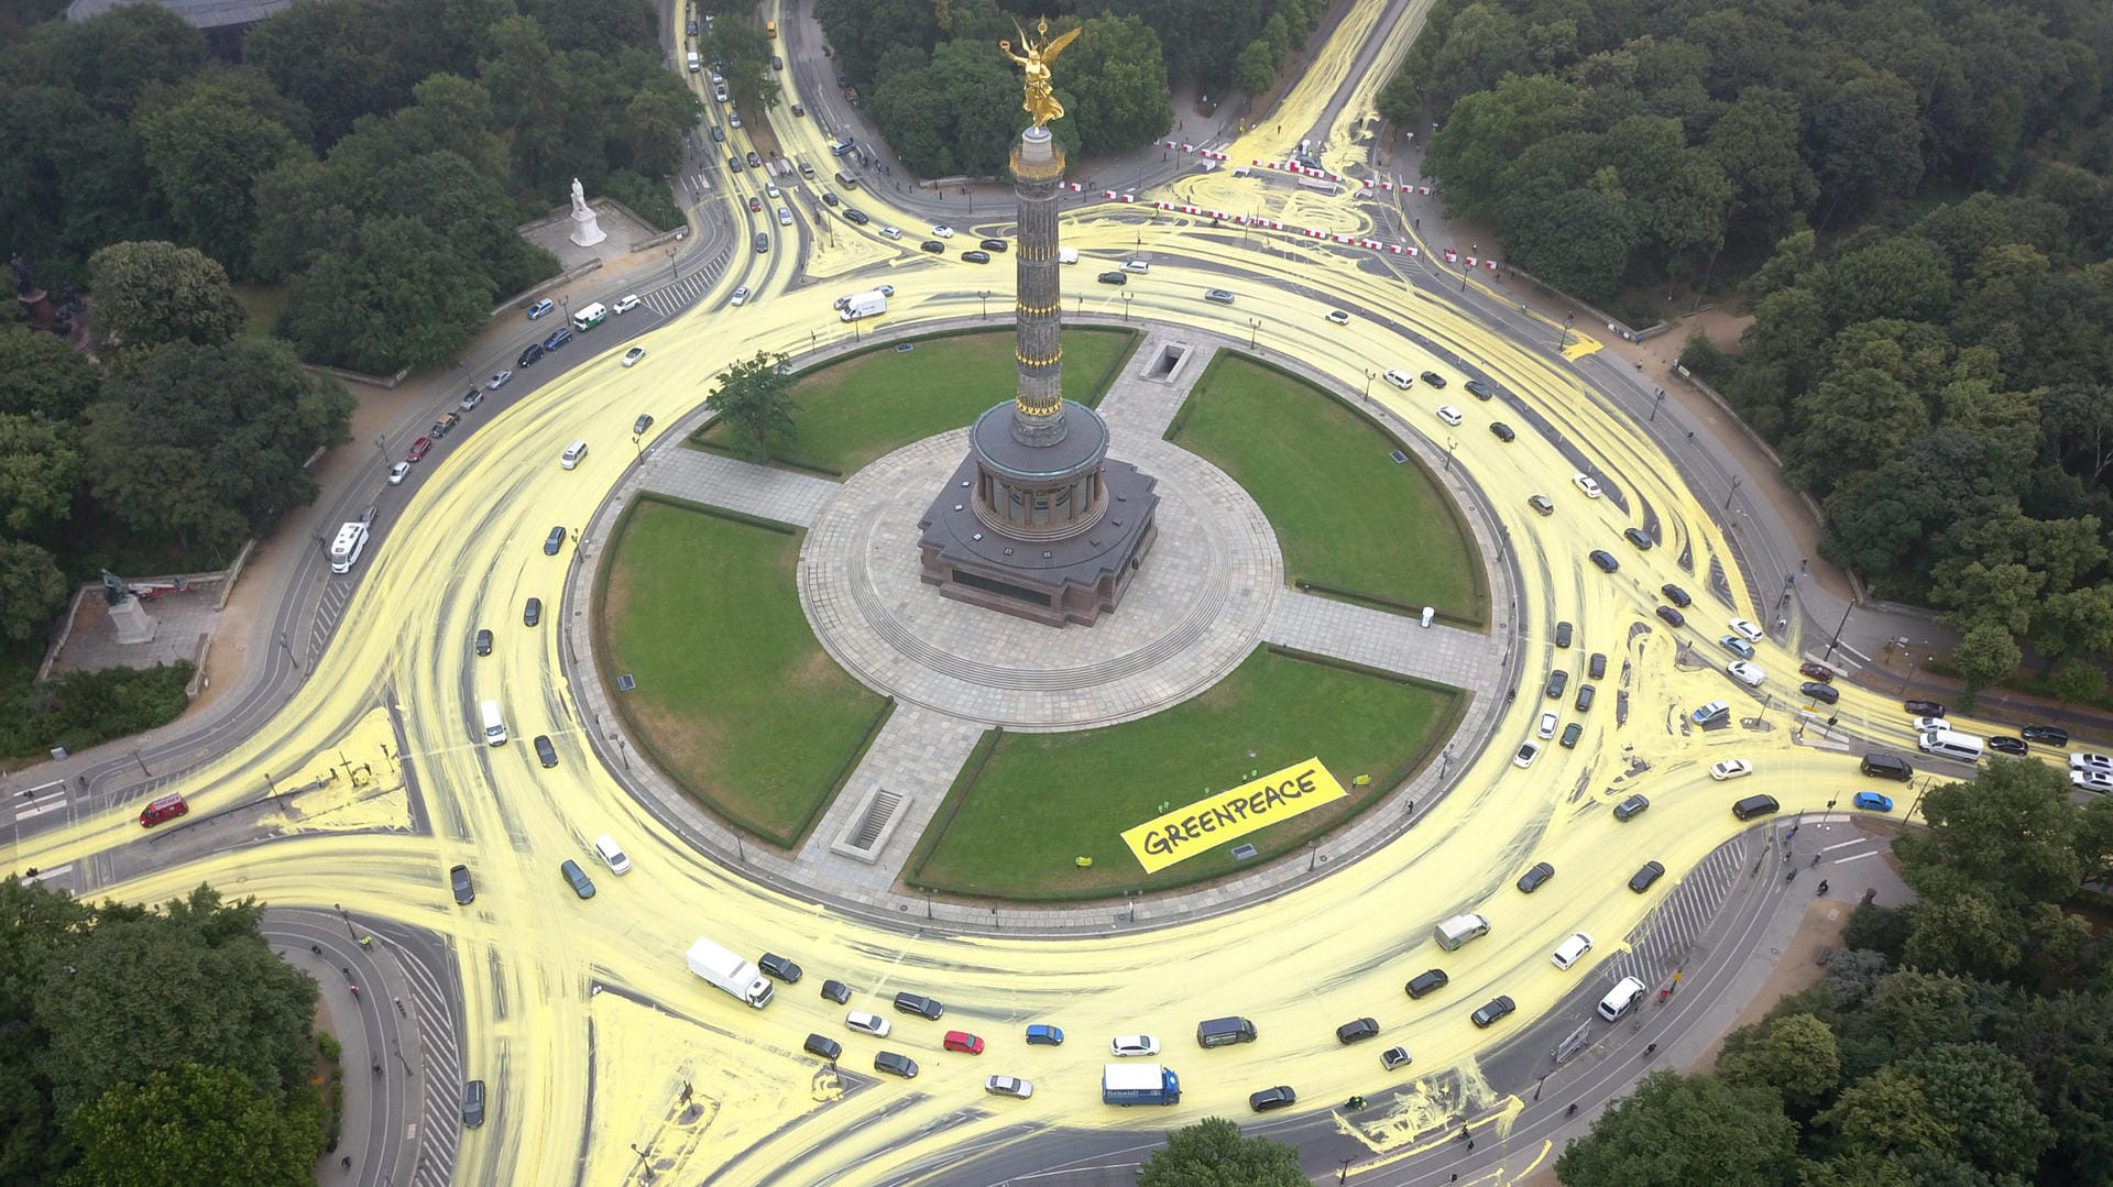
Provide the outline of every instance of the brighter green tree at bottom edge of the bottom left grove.
<path id="1" fill-rule="evenodd" d="M 80 1145 L 68 1187 L 302 1187 L 323 1153 L 313 1088 L 289 1109 L 235 1069 L 194 1062 L 112 1086 L 68 1117 L 66 1134 Z"/>

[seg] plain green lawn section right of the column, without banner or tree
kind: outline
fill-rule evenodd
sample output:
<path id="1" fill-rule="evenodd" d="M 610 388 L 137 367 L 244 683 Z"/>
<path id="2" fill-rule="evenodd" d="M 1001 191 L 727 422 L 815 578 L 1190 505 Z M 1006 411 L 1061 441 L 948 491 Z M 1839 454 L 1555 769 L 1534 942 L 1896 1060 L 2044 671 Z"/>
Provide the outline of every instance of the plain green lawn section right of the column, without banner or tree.
<path id="1" fill-rule="evenodd" d="M 1173 439 L 1230 473 L 1270 517 L 1285 577 L 1397 606 L 1490 621 L 1481 558 L 1452 498 L 1327 393 L 1219 355 Z"/>

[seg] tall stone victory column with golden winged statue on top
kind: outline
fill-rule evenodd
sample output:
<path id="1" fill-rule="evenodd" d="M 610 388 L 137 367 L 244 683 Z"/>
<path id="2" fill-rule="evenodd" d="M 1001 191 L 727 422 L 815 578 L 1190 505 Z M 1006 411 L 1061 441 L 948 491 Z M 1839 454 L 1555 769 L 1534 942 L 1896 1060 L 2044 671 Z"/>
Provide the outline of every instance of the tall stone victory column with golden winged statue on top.
<path id="1" fill-rule="evenodd" d="M 976 418 L 968 456 L 919 520 L 919 579 L 940 596 L 1048 625 L 1092 625 L 1122 602 L 1158 539 L 1156 479 L 1107 458 L 1107 422 L 1063 397 L 1056 201 L 1065 154 L 1050 61 L 1078 30 L 997 46 L 1027 72 L 1033 125 L 1012 148 L 1018 203 L 1014 397 Z"/>

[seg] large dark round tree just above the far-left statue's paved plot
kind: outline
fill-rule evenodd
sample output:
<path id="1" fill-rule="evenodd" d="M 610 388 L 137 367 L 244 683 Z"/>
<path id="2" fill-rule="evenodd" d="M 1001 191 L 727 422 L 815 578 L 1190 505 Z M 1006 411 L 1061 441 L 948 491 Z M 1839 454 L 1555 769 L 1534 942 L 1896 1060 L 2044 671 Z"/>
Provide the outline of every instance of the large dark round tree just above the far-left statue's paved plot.
<path id="1" fill-rule="evenodd" d="M 211 551 L 313 501 L 302 463 L 351 435 L 353 397 L 279 340 L 171 342 L 108 395 L 82 437 L 91 490 L 127 524 Z"/>

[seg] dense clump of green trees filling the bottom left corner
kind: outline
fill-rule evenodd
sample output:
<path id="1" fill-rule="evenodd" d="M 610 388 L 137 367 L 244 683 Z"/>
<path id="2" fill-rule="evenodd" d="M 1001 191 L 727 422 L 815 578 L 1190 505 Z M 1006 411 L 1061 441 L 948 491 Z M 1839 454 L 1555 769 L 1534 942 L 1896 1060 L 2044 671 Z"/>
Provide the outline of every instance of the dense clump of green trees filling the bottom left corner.
<path id="1" fill-rule="evenodd" d="M 209 887 L 91 906 L 0 881 L 0 1183 L 315 1181 L 317 986 Z"/>

